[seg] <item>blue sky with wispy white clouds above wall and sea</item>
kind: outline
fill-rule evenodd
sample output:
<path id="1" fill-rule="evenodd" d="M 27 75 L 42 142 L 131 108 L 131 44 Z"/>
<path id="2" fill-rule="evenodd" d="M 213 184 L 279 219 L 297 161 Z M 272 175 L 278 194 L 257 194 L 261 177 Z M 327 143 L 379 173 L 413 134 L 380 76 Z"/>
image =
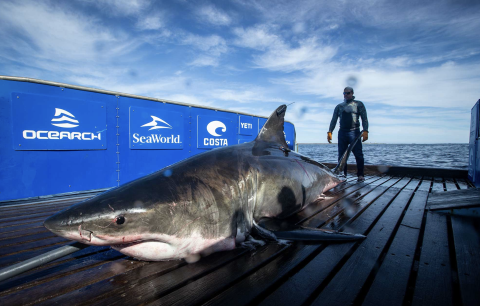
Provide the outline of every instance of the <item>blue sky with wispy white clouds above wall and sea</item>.
<path id="1" fill-rule="evenodd" d="M 265 116 L 295 102 L 285 118 L 297 142 L 326 142 L 349 85 L 368 142 L 467 143 L 479 11 L 469 0 L 1 0 L 0 74 Z"/>

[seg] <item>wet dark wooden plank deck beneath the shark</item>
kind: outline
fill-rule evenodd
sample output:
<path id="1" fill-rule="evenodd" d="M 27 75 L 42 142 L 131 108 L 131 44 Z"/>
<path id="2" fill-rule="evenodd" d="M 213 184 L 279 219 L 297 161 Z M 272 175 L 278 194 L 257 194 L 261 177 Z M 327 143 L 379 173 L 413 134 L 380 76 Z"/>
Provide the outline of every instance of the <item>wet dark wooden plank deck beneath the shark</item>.
<path id="1" fill-rule="evenodd" d="M 472 185 L 464 178 L 402 172 L 370 171 L 365 178 L 358 182 L 350 173 L 326 192 L 332 198 L 290 218 L 363 233 L 365 240 L 268 242 L 190 264 L 138 261 L 108 246 L 90 246 L 0 282 L 0 304 L 478 304 L 480 219 L 426 209 L 429 194 Z M 0 206 L 0 268 L 69 243 L 42 221 L 88 196 Z"/>

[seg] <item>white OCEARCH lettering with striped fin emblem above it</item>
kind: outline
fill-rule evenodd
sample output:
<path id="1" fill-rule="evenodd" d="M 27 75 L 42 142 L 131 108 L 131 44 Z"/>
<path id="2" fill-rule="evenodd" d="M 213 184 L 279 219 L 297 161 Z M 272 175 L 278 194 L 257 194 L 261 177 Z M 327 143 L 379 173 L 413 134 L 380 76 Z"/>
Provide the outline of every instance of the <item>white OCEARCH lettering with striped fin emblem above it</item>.
<path id="1" fill-rule="evenodd" d="M 59 117 L 62 115 L 61 117 Z M 55 114 L 53 115 L 52 122 L 62 122 L 62 123 L 51 123 L 52 125 L 63 127 L 63 128 L 72 128 L 77 127 L 79 124 L 72 124 L 79 123 L 78 120 L 73 119 L 75 116 L 71 114 L 69 111 L 61 108 L 55 108 Z M 68 122 L 65 122 L 68 121 Z M 95 135 L 96 133 L 96 135 Z M 22 132 L 22 136 L 25 139 L 63 139 L 67 138 L 70 140 L 78 139 L 78 140 L 93 140 L 97 138 L 100 139 L 100 132 L 70 132 L 70 131 L 58 131 L 58 130 L 31 130 L 25 129 Z"/>

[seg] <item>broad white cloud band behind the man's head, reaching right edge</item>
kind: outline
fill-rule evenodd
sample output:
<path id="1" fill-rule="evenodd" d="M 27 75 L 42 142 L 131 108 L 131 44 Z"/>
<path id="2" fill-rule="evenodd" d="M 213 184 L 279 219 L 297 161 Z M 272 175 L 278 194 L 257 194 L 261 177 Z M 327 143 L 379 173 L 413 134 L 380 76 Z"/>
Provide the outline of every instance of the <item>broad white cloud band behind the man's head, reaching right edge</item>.
<path id="1" fill-rule="evenodd" d="M 329 62 L 302 70 L 303 76 L 272 81 L 288 85 L 297 93 L 341 100 L 347 78 L 355 75 L 355 96 L 365 102 L 469 109 L 478 99 L 479 71 L 480 64 L 454 62 L 417 70 Z"/>

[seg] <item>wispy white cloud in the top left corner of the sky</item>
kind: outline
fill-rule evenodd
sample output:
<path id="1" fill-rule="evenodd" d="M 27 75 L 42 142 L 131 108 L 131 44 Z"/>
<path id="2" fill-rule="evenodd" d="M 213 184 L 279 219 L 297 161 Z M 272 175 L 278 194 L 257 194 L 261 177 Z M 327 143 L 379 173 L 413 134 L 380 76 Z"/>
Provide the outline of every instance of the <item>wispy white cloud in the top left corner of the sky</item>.
<path id="1" fill-rule="evenodd" d="M 2 47 L 14 48 L 23 57 L 45 60 L 45 64 L 48 60 L 95 61 L 136 47 L 135 39 L 125 41 L 125 34 L 113 34 L 95 17 L 54 9 L 46 3 L 1 2 L 0 19 Z"/>

